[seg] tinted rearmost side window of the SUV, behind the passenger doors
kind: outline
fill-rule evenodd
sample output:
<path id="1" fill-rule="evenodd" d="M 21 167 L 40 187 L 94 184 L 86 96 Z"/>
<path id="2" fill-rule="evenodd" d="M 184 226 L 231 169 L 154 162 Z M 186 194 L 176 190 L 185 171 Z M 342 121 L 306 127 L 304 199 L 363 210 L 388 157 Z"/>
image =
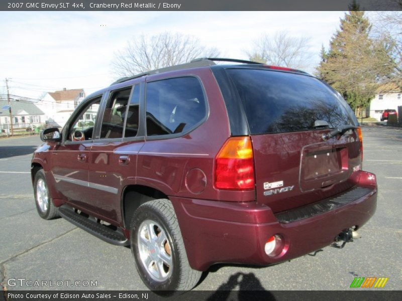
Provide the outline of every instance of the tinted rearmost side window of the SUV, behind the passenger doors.
<path id="1" fill-rule="evenodd" d="M 206 116 L 203 88 L 195 77 L 178 77 L 147 83 L 147 135 L 188 131 Z"/>

